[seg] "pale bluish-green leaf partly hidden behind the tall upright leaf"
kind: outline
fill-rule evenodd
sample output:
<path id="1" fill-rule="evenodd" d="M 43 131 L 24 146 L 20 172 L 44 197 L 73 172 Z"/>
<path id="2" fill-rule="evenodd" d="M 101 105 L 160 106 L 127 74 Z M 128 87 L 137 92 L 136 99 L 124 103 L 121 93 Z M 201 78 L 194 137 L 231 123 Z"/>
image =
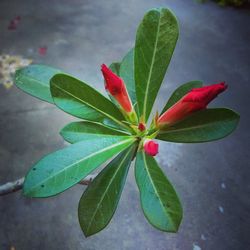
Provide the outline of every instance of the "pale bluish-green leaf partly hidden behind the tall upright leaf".
<path id="1" fill-rule="evenodd" d="M 123 79 L 133 105 L 136 104 L 135 79 L 134 79 L 134 48 L 122 59 L 120 77 Z"/>

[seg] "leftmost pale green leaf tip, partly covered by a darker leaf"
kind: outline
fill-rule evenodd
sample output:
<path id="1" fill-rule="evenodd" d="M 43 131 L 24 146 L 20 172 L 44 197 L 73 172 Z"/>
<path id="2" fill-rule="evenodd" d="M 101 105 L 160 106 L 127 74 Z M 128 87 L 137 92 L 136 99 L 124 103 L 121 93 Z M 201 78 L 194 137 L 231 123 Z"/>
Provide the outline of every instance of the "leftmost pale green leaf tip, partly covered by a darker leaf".
<path id="1" fill-rule="evenodd" d="M 59 69 L 45 65 L 30 65 L 16 71 L 15 84 L 24 92 L 54 104 L 49 82 L 55 74 L 60 72 Z"/>

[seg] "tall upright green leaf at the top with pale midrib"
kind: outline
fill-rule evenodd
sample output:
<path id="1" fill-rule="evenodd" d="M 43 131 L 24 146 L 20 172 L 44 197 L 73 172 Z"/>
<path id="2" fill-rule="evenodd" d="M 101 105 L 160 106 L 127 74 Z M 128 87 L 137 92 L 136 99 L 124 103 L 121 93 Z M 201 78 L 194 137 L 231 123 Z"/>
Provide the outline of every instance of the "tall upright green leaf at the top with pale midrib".
<path id="1" fill-rule="evenodd" d="M 135 87 L 140 115 L 148 120 L 178 39 L 176 17 L 168 9 L 152 9 L 136 34 Z"/>

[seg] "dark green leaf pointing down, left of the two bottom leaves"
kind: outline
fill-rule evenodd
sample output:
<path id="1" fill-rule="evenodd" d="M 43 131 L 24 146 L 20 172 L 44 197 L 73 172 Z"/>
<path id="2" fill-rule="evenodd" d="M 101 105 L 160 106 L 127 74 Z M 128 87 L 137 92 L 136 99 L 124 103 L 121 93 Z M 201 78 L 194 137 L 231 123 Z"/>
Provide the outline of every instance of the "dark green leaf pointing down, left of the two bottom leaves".
<path id="1" fill-rule="evenodd" d="M 134 150 L 135 145 L 121 152 L 83 193 L 79 202 L 78 218 L 86 237 L 105 228 L 115 213 Z"/>

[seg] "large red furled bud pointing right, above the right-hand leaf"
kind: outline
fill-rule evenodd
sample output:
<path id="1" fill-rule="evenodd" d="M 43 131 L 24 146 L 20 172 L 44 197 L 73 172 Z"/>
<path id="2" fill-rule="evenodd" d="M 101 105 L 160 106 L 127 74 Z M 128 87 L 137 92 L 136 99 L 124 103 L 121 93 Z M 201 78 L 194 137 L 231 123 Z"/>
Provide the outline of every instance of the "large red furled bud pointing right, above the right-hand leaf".
<path id="1" fill-rule="evenodd" d="M 224 82 L 221 82 L 192 89 L 159 117 L 157 125 L 159 127 L 172 125 L 186 118 L 195 111 L 205 109 L 208 103 L 226 88 L 227 85 Z"/>

